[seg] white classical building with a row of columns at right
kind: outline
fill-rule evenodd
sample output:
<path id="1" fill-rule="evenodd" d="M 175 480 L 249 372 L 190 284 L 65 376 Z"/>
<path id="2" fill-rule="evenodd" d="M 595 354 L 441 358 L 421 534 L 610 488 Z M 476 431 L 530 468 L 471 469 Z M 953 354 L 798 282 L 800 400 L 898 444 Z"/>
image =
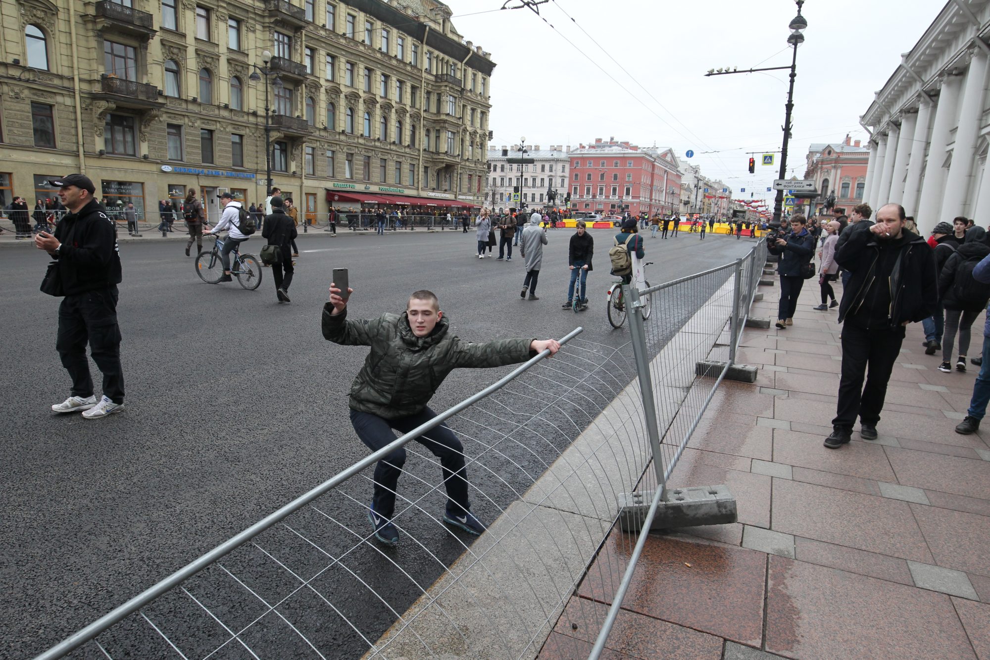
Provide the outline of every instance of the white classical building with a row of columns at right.
<path id="1" fill-rule="evenodd" d="M 926 234 L 955 216 L 990 217 L 988 23 L 990 0 L 946 3 L 860 118 L 866 201 L 902 204 Z"/>

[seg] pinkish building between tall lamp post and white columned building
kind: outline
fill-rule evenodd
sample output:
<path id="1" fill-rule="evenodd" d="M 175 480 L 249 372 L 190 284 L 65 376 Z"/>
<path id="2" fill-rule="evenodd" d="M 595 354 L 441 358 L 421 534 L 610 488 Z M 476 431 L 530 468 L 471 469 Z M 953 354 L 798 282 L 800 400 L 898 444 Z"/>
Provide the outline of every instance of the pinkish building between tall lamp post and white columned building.
<path id="1" fill-rule="evenodd" d="M 833 194 L 836 207 L 845 209 L 846 214 L 852 206 L 862 203 L 869 149 L 862 147 L 858 140 L 852 142 L 846 135 L 838 145 L 812 144 L 807 160 L 805 180 L 814 180 L 815 189 L 820 193 L 818 198 L 808 201 L 809 215 L 823 208 L 825 200 Z"/>

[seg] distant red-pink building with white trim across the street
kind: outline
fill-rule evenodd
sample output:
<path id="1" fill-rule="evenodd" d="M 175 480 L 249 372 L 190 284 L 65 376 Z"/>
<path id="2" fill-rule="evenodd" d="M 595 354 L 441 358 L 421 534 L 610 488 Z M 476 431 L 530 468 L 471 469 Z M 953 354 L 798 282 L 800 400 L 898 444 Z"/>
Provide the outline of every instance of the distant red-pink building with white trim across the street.
<path id="1" fill-rule="evenodd" d="M 596 138 L 568 156 L 572 210 L 669 215 L 679 209 L 681 171 L 673 150 Z"/>

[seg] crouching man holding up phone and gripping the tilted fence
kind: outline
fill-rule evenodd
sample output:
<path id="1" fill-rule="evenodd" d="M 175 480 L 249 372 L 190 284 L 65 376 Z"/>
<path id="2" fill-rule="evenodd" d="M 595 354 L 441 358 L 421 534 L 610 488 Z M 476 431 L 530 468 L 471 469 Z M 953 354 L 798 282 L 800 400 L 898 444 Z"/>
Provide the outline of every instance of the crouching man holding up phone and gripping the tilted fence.
<path id="1" fill-rule="evenodd" d="M 343 296 L 336 283 L 330 285 L 330 301 L 323 309 L 323 336 L 336 344 L 371 347 L 350 386 L 349 405 L 354 431 L 372 452 L 396 439 L 393 429 L 408 433 L 437 416 L 427 404 L 452 370 L 503 367 L 526 362 L 544 350 L 553 355 L 560 349 L 552 339 L 462 341 L 450 333 L 437 296 L 428 290 L 414 292 L 402 314 L 348 320 L 347 298 L 353 289 L 342 285 L 347 290 Z M 444 424 L 416 440 L 441 461 L 447 494 L 443 521 L 469 534 L 483 532 L 485 525 L 470 509 L 460 440 Z M 374 471 L 368 520 L 375 538 L 385 545 L 399 542 L 392 518 L 405 462 L 406 450 L 400 448 L 379 461 Z"/>

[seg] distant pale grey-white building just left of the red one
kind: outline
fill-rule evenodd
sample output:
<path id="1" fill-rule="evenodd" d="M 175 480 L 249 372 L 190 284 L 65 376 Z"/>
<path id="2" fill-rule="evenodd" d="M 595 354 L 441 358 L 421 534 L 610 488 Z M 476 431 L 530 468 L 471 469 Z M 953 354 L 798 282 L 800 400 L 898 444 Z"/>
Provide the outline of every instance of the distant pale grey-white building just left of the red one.
<path id="1" fill-rule="evenodd" d="M 532 165 L 507 163 L 509 159 L 523 156 L 519 145 L 488 148 L 488 194 L 485 205 L 490 208 L 516 207 L 524 203 L 529 207 L 564 206 L 567 193 L 567 165 L 570 162 L 562 145 L 540 149 L 524 146 L 526 158 L 533 159 Z M 519 188 L 519 200 L 514 201 L 513 193 Z M 553 201 L 550 201 L 550 196 Z"/>

